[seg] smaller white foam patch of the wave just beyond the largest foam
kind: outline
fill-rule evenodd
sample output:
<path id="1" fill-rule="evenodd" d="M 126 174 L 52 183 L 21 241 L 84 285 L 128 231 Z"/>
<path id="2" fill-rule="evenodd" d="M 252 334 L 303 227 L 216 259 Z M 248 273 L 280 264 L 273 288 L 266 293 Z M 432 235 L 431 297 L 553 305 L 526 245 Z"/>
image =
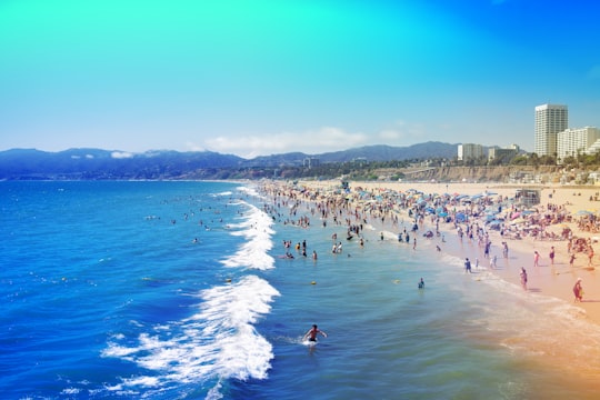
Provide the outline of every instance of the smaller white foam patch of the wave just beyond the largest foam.
<path id="1" fill-rule="evenodd" d="M 248 204 L 249 210 L 244 213 L 244 220 L 231 224 L 231 234 L 246 238 L 234 254 L 222 260 L 226 267 L 246 267 L 250 269 L 267 270 L 274 268 L 274 259 L 268 254 L 273 247 L 271 229 L 273 221 L 269 216 L 257 207 Z"/>

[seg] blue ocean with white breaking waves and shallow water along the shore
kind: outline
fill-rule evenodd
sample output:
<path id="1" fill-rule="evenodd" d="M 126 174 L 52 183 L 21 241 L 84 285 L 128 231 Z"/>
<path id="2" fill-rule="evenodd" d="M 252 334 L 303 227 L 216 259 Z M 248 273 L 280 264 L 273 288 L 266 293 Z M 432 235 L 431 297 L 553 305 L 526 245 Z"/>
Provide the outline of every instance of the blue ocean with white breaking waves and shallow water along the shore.
<path id="1" fill-rule="evenodd" d="M 466 274 L 454 237 L 438 252 L 417 232 L 412 249 L 367 224 L 361 246 L 254 183 L 4 181 L 0 193 L 3 399 L 600 390 L 599 327 L 487 269 Z M 313 323 L 328 337 L 308 346 Z"/>

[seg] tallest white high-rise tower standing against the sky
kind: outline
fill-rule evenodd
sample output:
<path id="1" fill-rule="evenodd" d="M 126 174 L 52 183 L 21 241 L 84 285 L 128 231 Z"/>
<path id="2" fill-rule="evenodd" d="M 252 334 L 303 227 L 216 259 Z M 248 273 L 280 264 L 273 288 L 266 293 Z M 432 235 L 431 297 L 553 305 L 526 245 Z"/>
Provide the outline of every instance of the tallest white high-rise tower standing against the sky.
<path id="1" fill-rule="evenodd" d="M 536 107 L 536 153 L 557 154 L 557 134 L 569 126 L 567 106 L 542 104 Z"/>

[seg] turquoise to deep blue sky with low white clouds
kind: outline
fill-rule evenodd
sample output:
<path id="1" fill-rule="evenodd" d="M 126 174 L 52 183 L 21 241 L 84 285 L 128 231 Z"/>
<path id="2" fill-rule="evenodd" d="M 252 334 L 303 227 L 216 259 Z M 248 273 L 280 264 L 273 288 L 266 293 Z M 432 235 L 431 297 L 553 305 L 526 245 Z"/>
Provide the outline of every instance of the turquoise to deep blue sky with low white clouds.
<path id="1" fill-rule="evenodd" d="M 0 151 L 243 158 L 600 128 L 590 0 L 0 0 Z"/>

